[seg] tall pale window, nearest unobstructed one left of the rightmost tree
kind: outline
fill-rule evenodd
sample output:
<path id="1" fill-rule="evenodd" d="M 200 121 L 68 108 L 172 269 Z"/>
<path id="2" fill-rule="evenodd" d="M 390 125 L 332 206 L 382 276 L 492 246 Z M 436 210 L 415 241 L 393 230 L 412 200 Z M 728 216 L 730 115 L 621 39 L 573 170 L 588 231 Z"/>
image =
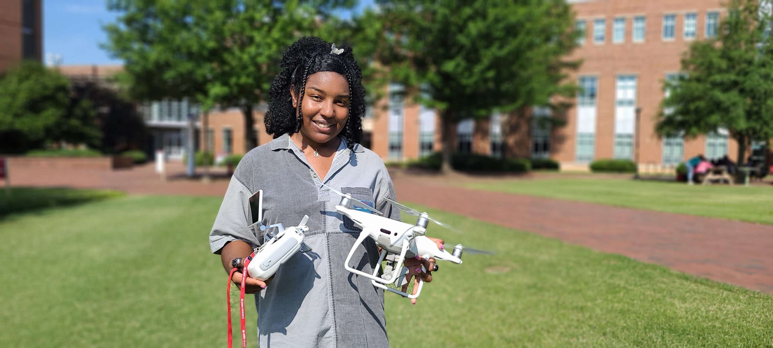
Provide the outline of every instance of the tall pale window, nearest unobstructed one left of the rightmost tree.
<path id="1" fill-rule="evenodd" d="M 618 76 L 615 87 L 615 159 L 633 158 L 636 77 Z"/>

